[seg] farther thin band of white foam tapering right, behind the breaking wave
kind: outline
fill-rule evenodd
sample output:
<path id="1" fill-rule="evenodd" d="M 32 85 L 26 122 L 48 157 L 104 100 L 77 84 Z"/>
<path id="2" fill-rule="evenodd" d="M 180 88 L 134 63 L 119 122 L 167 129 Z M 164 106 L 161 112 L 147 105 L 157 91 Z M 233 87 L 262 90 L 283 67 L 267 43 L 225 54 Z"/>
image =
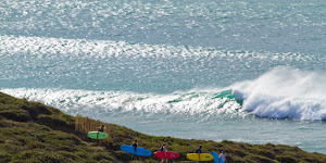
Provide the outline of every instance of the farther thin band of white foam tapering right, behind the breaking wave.
<path id="1" fill-rule="evenodd" d="M 218 50 L 212 47 L 129 43 L 126 41 L 63 39 L 48 37 L 0 36 L 0 54 L 37 55 L 48 58 L 68 55 L 79 58 L 230 58 L 231 60 L 310 60 L 298 53 L 269 53 L 242 50 Z"/>

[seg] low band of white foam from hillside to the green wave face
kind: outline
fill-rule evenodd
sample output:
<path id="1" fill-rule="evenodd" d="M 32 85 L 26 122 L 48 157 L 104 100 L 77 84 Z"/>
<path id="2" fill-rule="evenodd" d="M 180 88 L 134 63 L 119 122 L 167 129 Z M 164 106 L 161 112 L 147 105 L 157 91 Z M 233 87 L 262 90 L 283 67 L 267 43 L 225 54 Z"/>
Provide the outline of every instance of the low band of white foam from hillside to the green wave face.
<path id="1" fill-rule="evenodd" d="M 72 89 L 2 89 L 4 93 L 43 102 L 65 112 L 139 112 L 211 116 L 239 114 L 235 100 L 214 99 L 209 92 L 179 92 L 170 95 L 124 91 L 90 91 Z M 204 114 L 203 114 L 204 113 Z"/>

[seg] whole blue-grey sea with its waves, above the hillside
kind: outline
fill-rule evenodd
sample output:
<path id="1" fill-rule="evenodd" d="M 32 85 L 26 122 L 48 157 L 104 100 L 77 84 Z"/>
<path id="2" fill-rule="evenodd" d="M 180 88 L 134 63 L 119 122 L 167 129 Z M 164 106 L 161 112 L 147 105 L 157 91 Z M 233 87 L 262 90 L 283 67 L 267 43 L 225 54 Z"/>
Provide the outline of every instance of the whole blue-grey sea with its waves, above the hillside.
<path id="1" fill-rule="evenodd" d="M 0 91 L 149 135 L 326 154 L 325 37 L 325 0 L 2 0 Z"/>

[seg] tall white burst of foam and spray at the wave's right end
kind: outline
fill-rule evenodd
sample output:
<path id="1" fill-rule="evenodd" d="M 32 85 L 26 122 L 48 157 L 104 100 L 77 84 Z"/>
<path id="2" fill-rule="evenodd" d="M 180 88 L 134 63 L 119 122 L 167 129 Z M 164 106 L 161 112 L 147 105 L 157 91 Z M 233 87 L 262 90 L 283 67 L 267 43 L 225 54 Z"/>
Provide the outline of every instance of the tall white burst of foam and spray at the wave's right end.
<path id="1" fill-rule="evenodd" d="M 326 74 L 278 67 L 258 79 L 231 86 L 242 95 L 243 111 L 261 117 L 325 120 Z"/>

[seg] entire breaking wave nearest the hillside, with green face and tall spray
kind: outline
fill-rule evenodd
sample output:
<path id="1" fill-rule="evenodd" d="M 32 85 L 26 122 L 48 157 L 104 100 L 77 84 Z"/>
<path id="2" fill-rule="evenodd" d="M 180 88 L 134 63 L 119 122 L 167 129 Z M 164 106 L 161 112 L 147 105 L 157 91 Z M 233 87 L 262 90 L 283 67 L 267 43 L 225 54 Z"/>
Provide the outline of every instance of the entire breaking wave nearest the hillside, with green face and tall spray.
<path id="1" fill-rule="evenodd" d="M 220 89 L 173 93 L 137 93 L 73 89 L 1 89 L 18 98 L 45 102 L 65 112 L 142 112 L 224 116 L 326 120 L 325 73 L 274 68 L 253 80 Z"/>

